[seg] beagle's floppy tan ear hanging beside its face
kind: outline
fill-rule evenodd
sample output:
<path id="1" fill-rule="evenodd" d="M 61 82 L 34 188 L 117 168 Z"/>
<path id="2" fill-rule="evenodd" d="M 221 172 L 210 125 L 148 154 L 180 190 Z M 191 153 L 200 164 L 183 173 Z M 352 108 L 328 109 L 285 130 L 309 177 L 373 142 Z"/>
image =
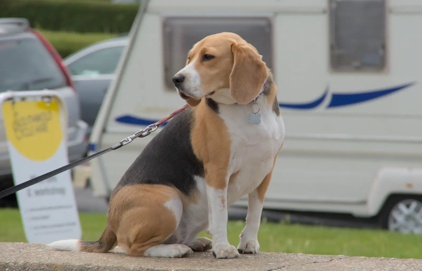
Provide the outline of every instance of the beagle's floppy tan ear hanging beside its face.
<path id="1" fill-rule="evenodd" d="M 231 44 L 233 68 L 230 73 L 230 95 L 239 104 L 251 102 L 268 77 L 262 56 L 247 44 Z"/>

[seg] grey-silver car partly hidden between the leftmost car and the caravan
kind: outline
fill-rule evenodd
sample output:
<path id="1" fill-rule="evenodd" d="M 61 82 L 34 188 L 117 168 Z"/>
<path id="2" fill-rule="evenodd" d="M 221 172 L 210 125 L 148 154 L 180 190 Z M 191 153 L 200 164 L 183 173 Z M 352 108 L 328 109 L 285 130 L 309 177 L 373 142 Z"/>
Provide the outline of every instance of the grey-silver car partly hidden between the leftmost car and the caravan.
<path id="1" fill-rule="evenodd" d="M 87 46 L 63 60 L 72 75 L 81 104 L 81 118 L 88 123 L 89 131 L 128 44 L 127 36 L 112 38 Z"/>

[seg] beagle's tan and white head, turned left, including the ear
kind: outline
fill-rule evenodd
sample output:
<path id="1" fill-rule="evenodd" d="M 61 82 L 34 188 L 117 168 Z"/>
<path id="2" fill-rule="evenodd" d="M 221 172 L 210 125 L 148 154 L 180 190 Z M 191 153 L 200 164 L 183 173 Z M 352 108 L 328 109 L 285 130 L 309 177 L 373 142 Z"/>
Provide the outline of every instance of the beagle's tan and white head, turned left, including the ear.
<path id="1" fill-rule="evenodd" d="M 254 46 L 237 34 L 223 32 L 193 46 L 173 83 L 190 106 L 197 106 L 203 97 L 246 104 L 260 93 L 267 77 L 267 66 Z"/>

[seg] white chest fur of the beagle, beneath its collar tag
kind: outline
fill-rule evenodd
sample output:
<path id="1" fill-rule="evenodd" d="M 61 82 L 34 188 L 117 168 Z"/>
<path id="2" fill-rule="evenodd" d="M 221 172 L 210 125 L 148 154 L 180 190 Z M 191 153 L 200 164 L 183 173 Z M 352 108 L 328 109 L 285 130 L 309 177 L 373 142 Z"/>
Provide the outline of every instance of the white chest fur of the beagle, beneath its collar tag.
<path id="1" fill-rule="evenodd" d="M 257 99 L 261 122 L 249 123 L 250 105 L 220 104 L 219 115 L 231 137 L 229 176 L 236 173 L 227 190 L 227 203 L 252 192 L 270 173 L 274 157 L 284 141 L 284 122 L 266 97 Z"/>

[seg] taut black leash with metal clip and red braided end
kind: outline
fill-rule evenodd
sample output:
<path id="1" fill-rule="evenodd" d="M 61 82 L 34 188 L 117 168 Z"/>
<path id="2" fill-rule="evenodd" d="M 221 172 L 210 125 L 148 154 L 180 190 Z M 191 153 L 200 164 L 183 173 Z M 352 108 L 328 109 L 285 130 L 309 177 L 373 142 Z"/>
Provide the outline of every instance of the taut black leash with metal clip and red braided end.
<path id="1" fill-rule="evenodd" d="M 155 122 L 154 124 L 149 125 L 145 129 L 140 130 L 138 133 L 135 133 L 132 136 L 128 136 L 127 138 L 124 138 L 122 141 L 120 141 L 119 143 L 111 146 L 108 149 L 104 149 L 101 152 L 97 152 L 95 154 L 89 155 L 89 156 L 84 157 L 82 159 L 79 159 L 79 160 L 77 160 L 77 161 L 75 161 L 73 163 L 70 163 L 68 165 L 62 166 L 61 168 L 57 168 L 54 171 L 50 171 L 50 172 L 45 173 L 45 174 L 43 174 L 41 176 L 35 177 L 34 179 L 30 179 L 29 181 L 23 182 L 22 184 L 18 184 L 18 185 L 15 185 L 14 187 L 10 187 L 10 188 L 8 188 L 6 190 L 3 190 L 3 191 L 0 192 L 0 198 L 4 198 L 5 196 L 11 195 L 13 193 L 16 193 L 19 190 L 22 190 L 24 188 L 30 187 L 31 185 L 34 185 L 34 184 L 37 184 L 39 182 L 42 182 L 42 181 L 44 181 L 46 179 L 49 179 L 52 176 L 55 176 L 57 174 L 60 174 L 60 173 L 62 173 L 64 171 L 67 171 L 69 169 L 72 169 L 72 168 L 74 168 L 74 167 L 76 167 L 78 165 L 81 165 L 81 164 L 83 164 L 85 162 L 88 162 L 89 160 L 94 159 L 95 157 L 98 157 L 100 155 L 103 155 L 103 154 L 105 154 L 107 152 L 110 152 L 110 151 L 115 150 L 115 149 L 119 149 L 122 146 L 127 145 L 130 142 L 132 142 L 133 139 L 135 139 L 135 138 L 138 138 L 138 137 L 140 137 L 140 138 L 146 137 L 150 133 L 152 133 L 155 130 L 157 130 L 158 127 L 160 125 L 162 125 L 164 122 L 166 122 L 169 119 L 173 118 L 176 114 L 179 114 L 181 111 L 183 111 L 187 107 L 188 107 L 188 105 L 185 105 L 185 106 L 179 108 L 178 110 L 176 110 L 172 114 L 170 114 L 168 117 L 165 117 L 164 119 L 161 119 L 159 122 Z"/>

